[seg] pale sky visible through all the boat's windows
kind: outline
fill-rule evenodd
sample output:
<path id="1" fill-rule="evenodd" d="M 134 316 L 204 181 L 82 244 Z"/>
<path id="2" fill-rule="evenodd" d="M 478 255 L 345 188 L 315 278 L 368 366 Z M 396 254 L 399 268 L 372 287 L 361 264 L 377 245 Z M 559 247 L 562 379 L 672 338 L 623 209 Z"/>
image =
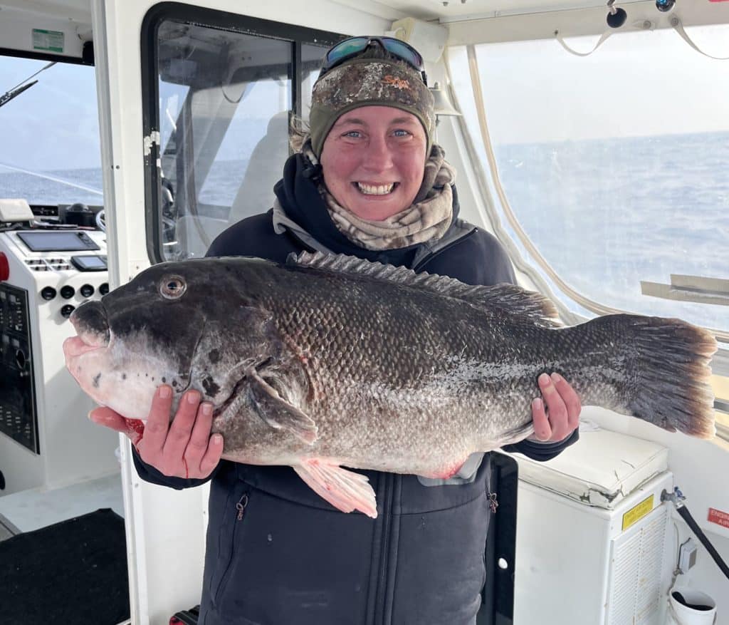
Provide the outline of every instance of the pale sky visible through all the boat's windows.
<path id="1" fill-rule="evenodd" d="M 707 52 L 729 56 L 729 26 L 687 32 Z M 589 50 L 596 39 L 569 45 Z M 615 35 L 586 58 L 551 40 L 483 45 L 478 55 L 495 142 L 729 130 L 729 61 L 700 55 L 673 30 Z M 456 89 L 465 93 L 464 48 L 452 50 L 451 61 Z M 44 64 L 0 57 L 0 95 Z M 0 107 L 0 164 L 33 171 L 100 166 L 93 67 L 56 64 L 37 78 Z M 270 93 L 259 93 L 261 106 L 252 100 L 249 110 L 270 111 Z M 473 114 L 467 97 L 461 106 Z"/>

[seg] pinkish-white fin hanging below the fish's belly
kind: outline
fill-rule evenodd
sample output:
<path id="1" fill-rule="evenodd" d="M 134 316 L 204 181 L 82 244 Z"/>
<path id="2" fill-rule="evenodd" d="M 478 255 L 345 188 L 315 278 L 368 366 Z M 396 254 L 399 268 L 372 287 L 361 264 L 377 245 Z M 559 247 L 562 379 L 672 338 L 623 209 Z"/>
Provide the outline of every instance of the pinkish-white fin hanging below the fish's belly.
<path id="1" fill-rule="evenodd" d="M 319 459 L 305 460 L 294 470 L 316 494 L 339 510 L 359 510 L 377 518 L 375 491 L 364 475 Z"/>

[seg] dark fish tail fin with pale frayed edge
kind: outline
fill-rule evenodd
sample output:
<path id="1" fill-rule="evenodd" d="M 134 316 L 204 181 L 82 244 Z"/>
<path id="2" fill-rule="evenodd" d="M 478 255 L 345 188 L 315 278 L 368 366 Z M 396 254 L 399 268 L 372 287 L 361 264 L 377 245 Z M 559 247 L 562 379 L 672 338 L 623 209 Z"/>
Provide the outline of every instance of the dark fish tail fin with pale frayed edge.
<path id="1" fill-rule="evenodd" d="M 634 329 L 638 353 L 628 410 L 669 432 L 714 437 L 709 361 L 717 342 L 711 332 L 679 319 L 623 316 Z"/>

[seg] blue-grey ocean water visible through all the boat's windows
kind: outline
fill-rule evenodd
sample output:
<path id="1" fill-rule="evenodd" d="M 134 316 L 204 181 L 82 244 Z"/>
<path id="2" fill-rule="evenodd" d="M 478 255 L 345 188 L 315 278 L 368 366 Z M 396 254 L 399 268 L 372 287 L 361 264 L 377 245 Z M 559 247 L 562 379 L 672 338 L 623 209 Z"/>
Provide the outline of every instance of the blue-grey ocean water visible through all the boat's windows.
<path id="1" fill-rule="evenodd" d="M 669 302 L 640 292 L 641 280 L 669 283 L 671 274 L 729 279 L 729 132 L 494 150 L 521 226 L 572 288 L 601 304 L 729 329 L 729 307 Z M 200 204 L 230 207 L 246 166 L 245 160 L 217 161 Z M 0 196 L 102 203 L 89 190 L 101 191 L 101 169 L 41 173 L 47 177 L 0 166 Z M 268 210 L 278 172 L 270 168 L 267 175 L 268 180 L 257 179 L 255 201 L 242 213 L 235 210 L 236 219 Z"/>

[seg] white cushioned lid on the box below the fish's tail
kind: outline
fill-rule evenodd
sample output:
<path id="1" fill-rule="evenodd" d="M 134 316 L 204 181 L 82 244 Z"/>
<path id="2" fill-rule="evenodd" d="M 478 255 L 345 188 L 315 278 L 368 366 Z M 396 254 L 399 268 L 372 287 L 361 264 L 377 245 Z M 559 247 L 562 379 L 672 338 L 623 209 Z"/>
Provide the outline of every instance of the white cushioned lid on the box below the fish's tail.
<path id="1" fill-rule="evenodd" d="M 668 448 L 580 422 L 580 440 L 538 462 L 521 453 L 519 479 L 585 505 L 612 510 L 643 483 L 668 470 Z"/>

